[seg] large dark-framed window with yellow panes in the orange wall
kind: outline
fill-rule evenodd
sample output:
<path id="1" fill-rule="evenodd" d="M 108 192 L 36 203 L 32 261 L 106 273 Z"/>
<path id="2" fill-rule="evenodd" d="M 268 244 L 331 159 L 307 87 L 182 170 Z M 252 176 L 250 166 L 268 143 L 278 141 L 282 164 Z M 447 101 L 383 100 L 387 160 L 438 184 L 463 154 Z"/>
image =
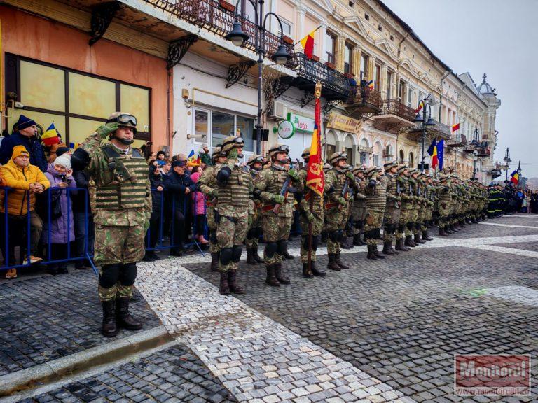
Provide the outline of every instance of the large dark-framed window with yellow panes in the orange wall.
<path id="1" fill-rule="evenodd" d="M 138 120 L 135 146 L 151 138 L 150 88 L 6 54 L 6 91 L 25 105 L 8 118 L 10 128 L 24 113 L 43 129 L 54 122 L 69 145 L 82 143 L 113 111 L 125 111 Z"/>

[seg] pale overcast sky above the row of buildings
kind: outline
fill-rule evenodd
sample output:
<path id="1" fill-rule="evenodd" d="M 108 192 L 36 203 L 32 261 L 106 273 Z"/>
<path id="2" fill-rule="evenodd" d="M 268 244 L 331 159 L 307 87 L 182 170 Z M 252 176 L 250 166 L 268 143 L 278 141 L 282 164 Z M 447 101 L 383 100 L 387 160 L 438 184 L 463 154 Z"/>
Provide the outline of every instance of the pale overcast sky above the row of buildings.
<path id="1" fill-rule="evenodd" d="M 508 147 L 511 168 L 538 176 L 538 0 L 382 1 L 455 73 L 488 75 L 501 99 L 495 160 Z"/>

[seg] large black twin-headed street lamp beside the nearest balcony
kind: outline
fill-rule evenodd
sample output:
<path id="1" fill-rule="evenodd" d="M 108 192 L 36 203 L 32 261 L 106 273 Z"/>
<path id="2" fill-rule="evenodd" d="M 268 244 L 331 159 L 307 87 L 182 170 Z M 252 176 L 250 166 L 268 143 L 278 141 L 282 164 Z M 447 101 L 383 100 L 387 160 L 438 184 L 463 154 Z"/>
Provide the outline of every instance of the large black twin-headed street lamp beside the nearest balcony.
<path id="1" fill-rule="evenodd" d="M 241 0 L 237 0 L 235 3 L 235 10 L 237 10 L 237 7 L 239 6 L 239 2 Z M 261 153 L 261 135 L 263 132 L 263 125 L 261 124 L 261 85 L 262 85 L 262 66 L 263 66 L 263 32 L 265 32 L 265 24 L 267 23 L 267 19 L 270 15 L 273 15 L 278 24 L 280 25 L 280 45 L 278 46 L 278 49 L 273 55 L 271 55 L 271 60 L 275 62 L 276 64 L 283 65 L 288 62 L 289 59 L 291 59 L 291 55 L 289 55 L 286 46 L 284 45 L 284 29 L 282 29 L 282 22 L 280 21 L 280 18 L 275 13 L 267 13 L 265 17 L 263 16 L 263 3 L 265 0 L 258 0 L 258 5 L 256 6 L 255 0 L 249 0 L 252 7 L 254 8 L 254 15 L 256 17 L 256 42 L 254 43 L 256 48 L 256 54 L 258 55 L 258 118 L 256 119 L 256 152 Z M 243 10 L 241 10 L 241 17 L 243 17 Z M 239 14 L 235 13 L 235 22 L 232 25 L 232 30 L 225 36 L 225 38 L 228 41 L 231 41 L 236 46 L 242 46 L 246 41 L 249 40 L 249 35 L 246 34 L 242 27 L 241 23 L 238 21 Z"/>

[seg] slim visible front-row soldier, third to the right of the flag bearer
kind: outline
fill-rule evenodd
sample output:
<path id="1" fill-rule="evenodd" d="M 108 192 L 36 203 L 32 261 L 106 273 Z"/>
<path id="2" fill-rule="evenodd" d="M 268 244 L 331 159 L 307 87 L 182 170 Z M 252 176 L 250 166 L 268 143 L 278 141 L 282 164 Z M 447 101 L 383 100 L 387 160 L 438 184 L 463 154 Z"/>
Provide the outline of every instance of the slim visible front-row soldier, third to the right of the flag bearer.
<path id="1" fill-rule="evenodd" d="M 385 208 L 385 231 L 383 232 L 383 250 L 384 255 L 398 255 L 392 248 L 392 239 L 396 234 L 396 228 L 400 220 L 401 188 L 398 183 L 398 162 L 387 162 L 383 165 L 385 169 L 385 178 L 387 178 L 387 206 Z"/>

